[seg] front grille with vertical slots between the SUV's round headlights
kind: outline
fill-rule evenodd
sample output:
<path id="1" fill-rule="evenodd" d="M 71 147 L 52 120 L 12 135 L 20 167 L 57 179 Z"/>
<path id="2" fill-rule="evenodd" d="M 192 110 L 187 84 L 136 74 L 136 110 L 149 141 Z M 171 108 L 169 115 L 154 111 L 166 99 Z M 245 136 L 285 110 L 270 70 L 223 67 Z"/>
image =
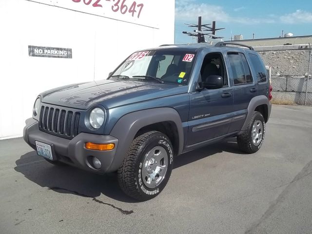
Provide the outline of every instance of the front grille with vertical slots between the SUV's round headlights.
<path id="1" fill-rule="evenodd" d="M 39 129 L 59 137 L 73 138 L 79 134 L 80 112 L 42 105 Z"/>

